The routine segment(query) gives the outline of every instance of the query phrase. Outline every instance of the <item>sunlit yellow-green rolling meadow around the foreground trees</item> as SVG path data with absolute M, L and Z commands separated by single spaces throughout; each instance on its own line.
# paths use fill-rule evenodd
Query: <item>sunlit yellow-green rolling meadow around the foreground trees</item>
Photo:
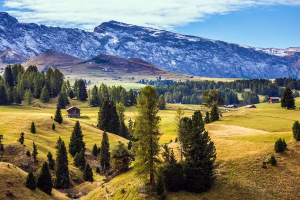
M 41 163 L 46 159 L 46 154 L 51 151 L 55 155 L 55 142 L 58 136 L 68 143 L 72 126 L 76 119 L 63 118 L 61 125 L 56 123 L 56 129 L 51 130 L 53 120 L 50 118 L 55 111 L 55 102 L 39 103 L 35 100 L 33 106 L 0 106 L 0 132 L 3 133 L 2 142 L 5 146 L 14 145 L 20 150 L 17 138 L 21 131 L 25 132 L 26 149 L 32 150 L 32 141 L 37 144 Z M 82 116 L 79 121 L 86 142 L 88 161 L 94 164 L 90 156 L 94 143 L 101 142 L 102 131 L 95 127 L 97 123 L 98 108 L 87 107 L 87 102 L 70 100 L 70 106 L 78 106 Z M 296 105 L 300 99 L 296 99 Z M 176 127 L 174 125 L 174 113 L 178 107 L 182 107 L 186 116 L 191 116 L 194 110 L 200 109 L 202 114 L 207 110 L 201 105 L 167 104 L 166 110 L 159 111 L 161 117 L 161 143 L 168 143 L 178 155 L 178 143 L 175 143 Z M 292 138 L 291 127 L 294 120 L 300 119 L 300 110 L 287 110 L 280 107 L 280 103 L 260 103 L 257 108 L 230 109 L 224 112 L 224 116 L 211 124 L 206 125 L 211 139 L 214 141 L 217 152 L 216 181 L 213 187 L 201 194 L 190 192 L 168 192 L 167 199 L 297 199 L 300 183 L 300 144 Z M 223 110 L 223 109 L 222 109 Z M 223 110 L 224 111 L 224 110 Z M 134 118 L 135 107 L 126 108 L 126 121 Z M 62 113 L 65 114 L 64 110 Z M 37 132 L 29 132 L 30 123 L 34 121 Z M 108 133 L 110 149 L 115 147 L 117 141 L 127 142 L 126 139 Z M 279 137 L 288 143 L 288 149 L 284 153 L 273 151 L 274 141 Z M 172 140 L 172 142 L 170 142 Z M 169 143 L 170 142 L 170 143 Z M 67 146 L 67 145 L 66 145 Z M 267 169 L 260 167 L 261 162 L 274 154 L 278 160 L 276 166 L 268 165 Z M 21 153 L 9 156 L 4 153 L 7 162 L 19 165 L 22 162 Z M 69 156 L 69 169 L 72 173 L 82 176 L 72 164 Z M 98 199 L 107 196 L 109 199 L 144 199 L 143 194 L 138 193 L 138 186 L 142 180 L 135 174 L 134 167 L 108 183 L 102 184 L 102 176 L 96 175 L 94 168 L 93 183 L 74 183 L 77 192 L 87 194 L 83 199 Z M 120 193 L 120 188 L 125 193 Z M 109 193 L 106 192 L 106 188 Z M 16 192 L 16 190 L 15 190 Z M 36 199 L 33 197 L 33 199 Z

